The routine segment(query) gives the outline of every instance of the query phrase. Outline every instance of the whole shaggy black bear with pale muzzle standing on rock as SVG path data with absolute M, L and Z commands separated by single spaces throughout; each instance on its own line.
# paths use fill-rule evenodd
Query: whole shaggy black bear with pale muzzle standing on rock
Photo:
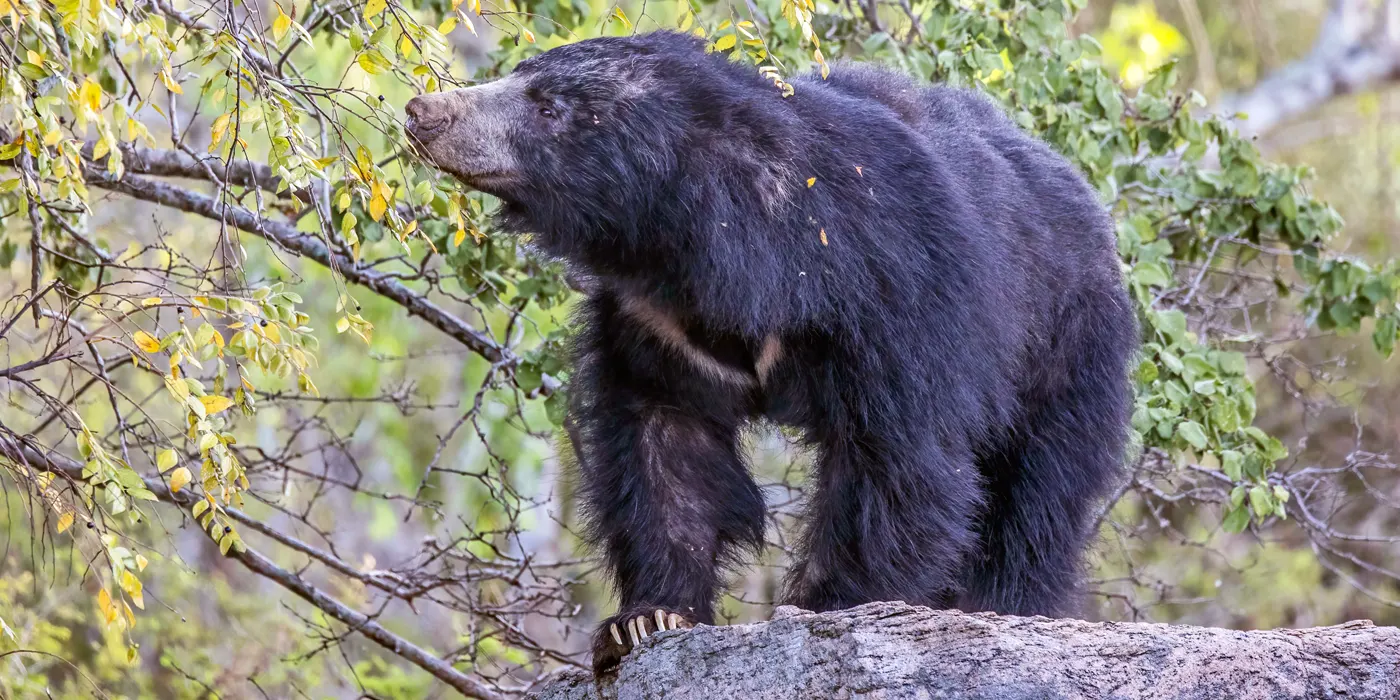
M 503 230 L 591 280 L 570 409 L 620 598 L 598 672 L 713 623 L 762 547 L 749 421 L 815 454 L 784 589 L 809 610 L 1071 612 L 1120 479 L 1137 325 L 1085 179 L 976 92 L 791 84 L 657 32 L 406 106 Z

